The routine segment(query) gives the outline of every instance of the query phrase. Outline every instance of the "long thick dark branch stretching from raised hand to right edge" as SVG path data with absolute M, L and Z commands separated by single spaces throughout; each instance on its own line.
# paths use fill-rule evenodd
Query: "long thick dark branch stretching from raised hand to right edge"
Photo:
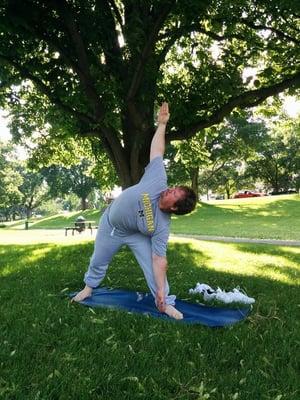
M 231 97 L 229 101 L 221 106 L 219 109 L 215 110 L 212 115 L 206 119 L 202 119 L 196 124 L 187 127 L 186 129 L 178 132 L 171 132 L 167 139 L 168 141 L 178 140 L 178 139 L 188 139 L 194 136 L 197 132 L 202 129 L 208 128 L 212 125 L 222 122 L 222 120 L 231 113 L 231 111 L 236 108 L 247 108 L 254 107 L 262 103 L 267 97 L 275 96 L 281 93 L 283 90 L 290 87 L 300 86 L 300 72 L 296 73 L 294 76 L 285 79 L 282 82 L 276 83 L 272 86 L 250 90 L 239 96 Z

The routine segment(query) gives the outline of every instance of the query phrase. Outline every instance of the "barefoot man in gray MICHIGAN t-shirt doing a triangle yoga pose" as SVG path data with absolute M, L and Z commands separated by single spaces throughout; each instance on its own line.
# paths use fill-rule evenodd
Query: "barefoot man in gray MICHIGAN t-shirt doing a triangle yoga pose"
M 183 318 L 174 307 L 176 296 L 169 295 L 166 250 L 171 214 L 191 212 L 196 195 L 186 186 L 167 186 L 163 155 L 168 120 L 169 107 L 163 103 L 151 142 L 150 163 L 140 182 L 124 190 L 101 217 L 94 253 L 84 277 L 86 286 L 72 301 L 91 296 L 92 289 L 105 277 L 113 255 L 126 244 L 144 272 L 158 310 L 176 319 Z

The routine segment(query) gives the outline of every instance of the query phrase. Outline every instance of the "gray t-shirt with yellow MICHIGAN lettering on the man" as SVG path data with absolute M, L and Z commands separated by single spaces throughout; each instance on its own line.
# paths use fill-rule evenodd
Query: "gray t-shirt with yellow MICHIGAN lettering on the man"
M 158 207 L 161 192 L 168 188 L 162 157 L 145 168 L 137 185 L 124 190 L 111 204 L 110 223 L 122 233 L 141 232 L 151 237 L 152 252 L 165 256 L 171 215 Z

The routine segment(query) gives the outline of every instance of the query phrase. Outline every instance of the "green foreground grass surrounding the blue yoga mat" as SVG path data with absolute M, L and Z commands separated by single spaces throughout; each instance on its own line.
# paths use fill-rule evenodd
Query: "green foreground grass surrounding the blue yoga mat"
M 172 292 L 197 282 L 256 298 L 226 329 L 186 326 L 64 297 L 82 285 L 93 243 L 0 246 L 0 398 L 298 400 L 300 248 L 176 240 Z M 121 250 L 103 284 L 146 291 Z M 298 390 L 298 391 L 297 391 Z

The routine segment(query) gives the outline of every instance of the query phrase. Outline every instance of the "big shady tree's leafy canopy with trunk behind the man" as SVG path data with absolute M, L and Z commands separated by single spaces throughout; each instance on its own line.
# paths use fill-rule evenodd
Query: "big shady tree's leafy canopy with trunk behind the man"
M 192 138 L 298 88 L 299 44 L 293 0 L 1 0 L 0 105 L 16 138 L 88 138 L 127 187 L 158 102 L 168 141 Z

